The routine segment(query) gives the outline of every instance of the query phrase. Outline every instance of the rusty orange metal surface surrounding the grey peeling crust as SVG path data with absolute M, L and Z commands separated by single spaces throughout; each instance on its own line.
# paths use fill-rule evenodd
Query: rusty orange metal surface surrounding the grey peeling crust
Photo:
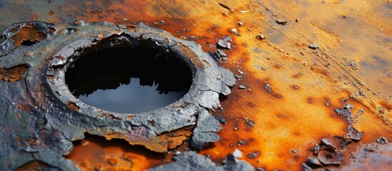
M 0 28 L 6 30 L 21 21 L 65 26 L 76 19 L 109 21 L 126 28 L 142 21 L 162 28 L 177 38 L 196 41 L 205 52 L 215 53 L 221 58 L 218 65 L 237 78 L 231 94 L 221 99 L 223 110 L 209 111 L 226 123 L 218 133 L 221 140 L 197 150 L 199 154 L 221 164 L 238 149 L 242 152 L 238 159 L 266 170 L 351 170 L 379 165 L 380 170 L 390 170 L 391 6 L 391 1 L 1 1 Z M 230 48 L 219 43 L 225 36 L 232 38 Z M 14 41 L 27 39 L 41 41 L 42 35 L 16 37 Z M 15 58 L 23 61 L 30 55 Z M 14 64 L 0 64 L 0 82 L 24 86 L 24 78 L 33 76 L 21 78 L 26 66 Z M 13 93 L 1 91 L 2 108 L 19 111 L 3 120 L 26 125 L 41 122 L 17 120 L 39 106 L 13 104 L 3 97 Z M 32 95 L 43 96 L 40 88 Z M 14 99 L 26 97 L 14 95 Z M 12 134 L 6 127 L 2 130 Z M 145 170 L 172 162 L 175 151 L 189 147 L 186 141 L 156 159 L 116 145 L 93 147 L 97 143 L 89 140 L 84 146 L 75 144 L 67 158 L 84 170 L 94 170 L 97 163 L 120 169 L 125 166 L 107 161 L 111 156 L 119 160 L 121 156 L 114 153 L 122 152 L 133 157 L 131 168 Z M 121 149 L 114 150 L 116 147 Z M 100 157 L 78 157 L 91 150 Z M 71 160 L 59 158 L 67 163 Z M 13 163 L 15 167 L 24 164 Z M 41 163 L 41 167 L 51 165 Z

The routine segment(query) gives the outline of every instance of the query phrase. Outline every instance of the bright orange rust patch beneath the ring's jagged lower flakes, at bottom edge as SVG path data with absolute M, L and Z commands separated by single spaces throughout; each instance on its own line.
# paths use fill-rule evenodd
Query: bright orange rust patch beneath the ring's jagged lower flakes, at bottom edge
M 86 135 L 84 142 L 75 142 L 66 158 L 76 162 L 82 170 L 147 170 L 151 166 L 170 162 L 170 157 L 151 152 L 139 145 L 129 145 L 125 140 L 105 140 L 96 135 Z

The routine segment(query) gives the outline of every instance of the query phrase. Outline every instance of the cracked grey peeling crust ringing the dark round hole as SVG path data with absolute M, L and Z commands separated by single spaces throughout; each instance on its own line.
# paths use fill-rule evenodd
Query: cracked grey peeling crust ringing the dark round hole
M 27 38 L 10 38 L 25 27 L 34 27 L 35 34 L 28 34 Z M 43 37 L 48 30 L 51 34 Z M 156 152 L 166 152 L 185 140 L 160 135 L 189 126 L 196 125 L 192 145 L 198 149 L 205 142 L 220 139 L 213 132 L 221 127 L 208 110 L 219 106 L 219 94 L 231 93 L 235 79 L 233 73 L 217 66 L 197 43 L 175 38 L 145 24 L 137 24 L 130 31 L 107 22 L 89 24 L 85 21 L 62 27 L 41 22 L 14 24 L 3 35 L 1 46 L 4 51 L 0 53 L 0 63 L 1 67 L 11 68 L 4 69 L 0 81 L 0 104 L 4 109 L 1 118 L 8 121 L 0 123 L 3 129 L 0 136 L 4 137 L 0 140 L 2 168 L 15 170 L 24 163 L 39 160 L 50 163 L 49 167 L 76 170 L 77 167 L 63 155 L 69 154 L 72 142 L 84 138 L 84 133 L 108 139 L 121 138 Z M 39 38 L 35 39 L 34 35 Z M 24 44 L 21 40 L 39 41 Z M 75 98 L 64 81 L 72 61 L 89 51 L 118 46 L 149 47 L 179 58 L 194 75 L 189 92 L 171 105 L 146 113 L 112 113 Z M 16 58 L 24 54 L 33 55 Z M 30 66 L 29 71 L 17 69 L 19 63 Z M 17 78 L 9 73 L 26 76 Z M 14 80 L 6 80 L 6 76 Z M 173 144 L 174 140 L 180 142 Z M 11 159 L 17 162 L 10 162 Z

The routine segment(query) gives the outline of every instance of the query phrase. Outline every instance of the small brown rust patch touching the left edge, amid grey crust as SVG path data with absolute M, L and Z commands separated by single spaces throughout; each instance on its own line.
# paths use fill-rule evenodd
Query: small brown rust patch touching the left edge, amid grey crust
M 12 68 L 0 68 L 0 80 L 14 83 L 24 79 L 24 73 L 26 73 L 29 67 L 26 64 L 14 66 Z

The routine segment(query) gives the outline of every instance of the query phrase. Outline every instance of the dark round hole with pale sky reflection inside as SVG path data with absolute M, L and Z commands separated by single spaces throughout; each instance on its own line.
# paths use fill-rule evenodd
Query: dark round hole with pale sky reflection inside
M 84 103 L 119 113 L 162 108 L 182 98 L 192 73 L 153 48 L 106 48 L 79 57 L 66 71 L 71 93 Z

